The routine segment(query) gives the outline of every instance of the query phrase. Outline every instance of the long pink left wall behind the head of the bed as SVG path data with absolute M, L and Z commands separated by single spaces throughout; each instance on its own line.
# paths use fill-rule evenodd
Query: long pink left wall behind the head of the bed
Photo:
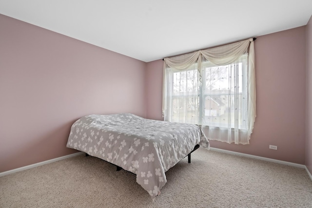
M 0 15 L 0 172 L 60 157 L 91 113 L 146 116 L 146 63 Z

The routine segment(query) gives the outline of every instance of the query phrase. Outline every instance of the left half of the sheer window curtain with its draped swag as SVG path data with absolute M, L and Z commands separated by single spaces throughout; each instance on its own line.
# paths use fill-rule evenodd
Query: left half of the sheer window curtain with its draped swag
M 162 100 L 164 120 L 196 124 L 199 122 L 201 75 L 196 64 L 199 54 L 195 52 L 168 59 L 170 66 L 175 67 L 167 67 L 166 61 L 164 62 L 163 77 L 167 80 L 163 83 L 163 96 L 167 97 Z

